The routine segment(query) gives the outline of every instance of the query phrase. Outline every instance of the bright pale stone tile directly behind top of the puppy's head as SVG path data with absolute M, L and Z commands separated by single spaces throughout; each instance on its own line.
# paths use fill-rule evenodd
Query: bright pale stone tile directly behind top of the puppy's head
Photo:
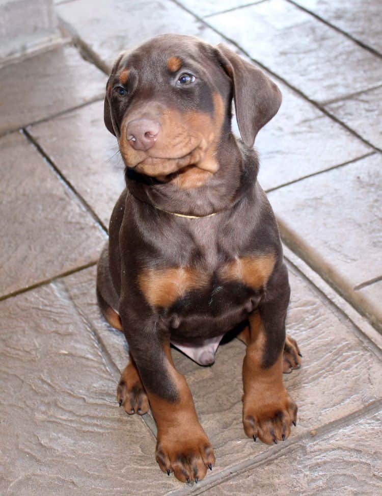
M 165 33 L 195 35 L 211 43 L 220 37 L 170 0 L 77 0 L 57 6 L 68 29 L 96 54 L 110 70 L 122 50 L 131 49 L 153 36 Z M 144 19 L 144 22 L 142 22 Z

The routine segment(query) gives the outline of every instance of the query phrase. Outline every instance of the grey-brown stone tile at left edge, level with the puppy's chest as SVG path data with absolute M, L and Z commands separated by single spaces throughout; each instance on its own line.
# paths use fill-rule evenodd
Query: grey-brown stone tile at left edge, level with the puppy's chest
M 97 259 L 105 234 L 19 134 L 0 139 L 0 296 Z

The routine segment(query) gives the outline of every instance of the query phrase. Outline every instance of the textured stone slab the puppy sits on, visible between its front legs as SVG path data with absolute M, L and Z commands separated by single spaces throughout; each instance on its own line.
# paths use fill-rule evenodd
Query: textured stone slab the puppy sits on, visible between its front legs
M 80 314 L 90 322 L 108 354 L 122 369 L 128 358 L 127 348 L 123 336 L 111 331 L 100 318 L 95 268 L 72 274 L 63 282 Z M 288 332 L 301 346 L 304 366 L 284 376 L 298 404 L 299 419 L 290 440 L 283 445 L 255 444 L 243 433 L 241 367 L 245 348 L 241 342 L 234 340 L 221 346 L 212 367 L 199 367 L 173 350 L 176 366 L 187 378 L 201 423 L 215 449 L 214 476 L 259 454 L 275 455 L 299 435 L 341 419 L 382 396 L 380 359 L 368 351 L 351 325 L 340 320 L 308 283 L 291 273 L 291 285 Z M 122 411 L 121 415 L 126 416 Z

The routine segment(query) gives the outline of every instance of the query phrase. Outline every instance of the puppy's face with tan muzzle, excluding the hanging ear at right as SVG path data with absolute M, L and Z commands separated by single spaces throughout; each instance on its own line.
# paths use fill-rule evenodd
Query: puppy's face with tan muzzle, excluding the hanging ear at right
M 161 36 L 122 55 L 105 122 L 110 115 L 126 166 L 160 180 L 190 168 L 214 173 L 230 86 L 213 47 L 197 38 Z

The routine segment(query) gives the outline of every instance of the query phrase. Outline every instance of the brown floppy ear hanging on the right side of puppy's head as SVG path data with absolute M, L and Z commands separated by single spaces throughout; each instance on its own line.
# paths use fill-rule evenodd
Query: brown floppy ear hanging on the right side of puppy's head
M 276 115 L 281 91 L 264 72 L 219 44 L 220 62 L 232 80 L 236 119 L 241 138 L 253 147 L 259 130 Z

